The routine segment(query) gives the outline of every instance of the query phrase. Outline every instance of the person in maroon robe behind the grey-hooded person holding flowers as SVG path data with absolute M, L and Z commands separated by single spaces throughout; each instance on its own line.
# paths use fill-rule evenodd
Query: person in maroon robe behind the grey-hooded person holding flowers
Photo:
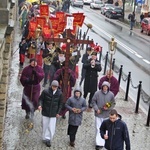
M 98 87 L 101 89 L 102 83 L 107 81 L 110 83 L 110 91 L 113 92 L 114 96 L 119 92 L 118 80 L 113 76 L 113 70 L 107 70 L 106 75 L 100 78 Z

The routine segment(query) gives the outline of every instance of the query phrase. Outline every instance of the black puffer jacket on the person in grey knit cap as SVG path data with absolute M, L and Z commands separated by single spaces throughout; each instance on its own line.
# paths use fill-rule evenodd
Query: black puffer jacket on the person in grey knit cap
M 46 117 L 56 117 L 62 108 L 63 96 L 60 89 L 53 95 L 52 88 L 42 91 L 39 97 L 39 106 L 42 106 L 42 115 Z

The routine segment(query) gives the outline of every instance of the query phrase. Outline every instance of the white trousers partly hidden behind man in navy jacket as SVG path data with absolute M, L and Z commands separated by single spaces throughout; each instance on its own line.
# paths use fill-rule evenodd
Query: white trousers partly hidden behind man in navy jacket
M 104 146 L 105 140 L 101 138 L 100 135 L 100 126 L 103 122 L 103 118 L 95 117 L 95 129 L 96 129 L 96 145 L 97 146 Z

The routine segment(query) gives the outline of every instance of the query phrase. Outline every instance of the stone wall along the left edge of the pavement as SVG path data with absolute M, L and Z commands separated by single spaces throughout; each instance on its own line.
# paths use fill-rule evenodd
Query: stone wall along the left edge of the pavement
M 13 0 L 0 0 L 0 150 L 2 150 L 3 127 L 7 103 L 12 30 L 16 15 L 16 7 L 13 6 Z

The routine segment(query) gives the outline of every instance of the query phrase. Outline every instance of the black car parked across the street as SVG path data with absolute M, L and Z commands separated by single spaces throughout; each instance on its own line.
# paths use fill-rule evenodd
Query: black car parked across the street
M 111 7 L 106 10 L 105 16 L 108 18 L 122 18 L 123 17 L 123 9 L 120 7 Z

